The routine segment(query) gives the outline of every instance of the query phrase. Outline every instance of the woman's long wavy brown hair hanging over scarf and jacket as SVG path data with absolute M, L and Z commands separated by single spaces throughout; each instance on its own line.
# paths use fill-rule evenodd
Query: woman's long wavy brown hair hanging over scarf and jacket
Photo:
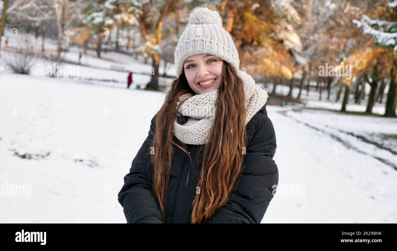
M 205 223 L 218 208 L 225 205 L 243 168 L 243 151 L 247 140 L 243 81 L 225 61 L 222 67 L 222 82 L 218 88 L 215 116 L 208 135 L 210 140 L 200 147 L 201 151 L 204 146 L 202 168 L 197 182 L 200 193 L 196 193 L 193 200 L 191 223 Z M 172 82 L 156 117 L 152 144 L 154 154 L 151 154 L 150 164 L 153 168 L 153 192 L 164 221 L 173 145 L 184 151 L 190 158 L 190 165 L 192 164 L 185 144 L 178 145 L 173 141 L 173 123 L 177 118 L 176 105 L 179 96 L 185 93 L 195 95 L 183 71 L 179 78 Z M 184 101 L 182 100 L 179 106 Z

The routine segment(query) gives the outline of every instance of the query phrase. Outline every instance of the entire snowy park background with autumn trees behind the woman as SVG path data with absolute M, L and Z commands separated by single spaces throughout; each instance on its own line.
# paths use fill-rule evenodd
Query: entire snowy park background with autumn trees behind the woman
M 394 0 L 0 0 L 0 222 L 125 223 L 117 194 L 196 7 L 269 94 L 262 223 L 397 223 Z

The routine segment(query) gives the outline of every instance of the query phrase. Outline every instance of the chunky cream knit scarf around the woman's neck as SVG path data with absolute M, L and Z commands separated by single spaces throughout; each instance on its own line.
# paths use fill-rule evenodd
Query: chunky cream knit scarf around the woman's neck
M 237 74 L 244 83 L 246 118 L 245 124 L 264 106 L 268 93 L 255 84 L 254 79 L 244 71 L 237 70 Z M 177 106 L 186 97 L 189 97 L 178 110 L 178 116 L 188 116 L 187 122 L 179 124 L 174 121 L 174 135 L 181 142 L 191 145 L 208 143 L 206 139 L 212 127 L 215 116 L 218 89 L 202 94 L 185 94 L 179 97 Z

